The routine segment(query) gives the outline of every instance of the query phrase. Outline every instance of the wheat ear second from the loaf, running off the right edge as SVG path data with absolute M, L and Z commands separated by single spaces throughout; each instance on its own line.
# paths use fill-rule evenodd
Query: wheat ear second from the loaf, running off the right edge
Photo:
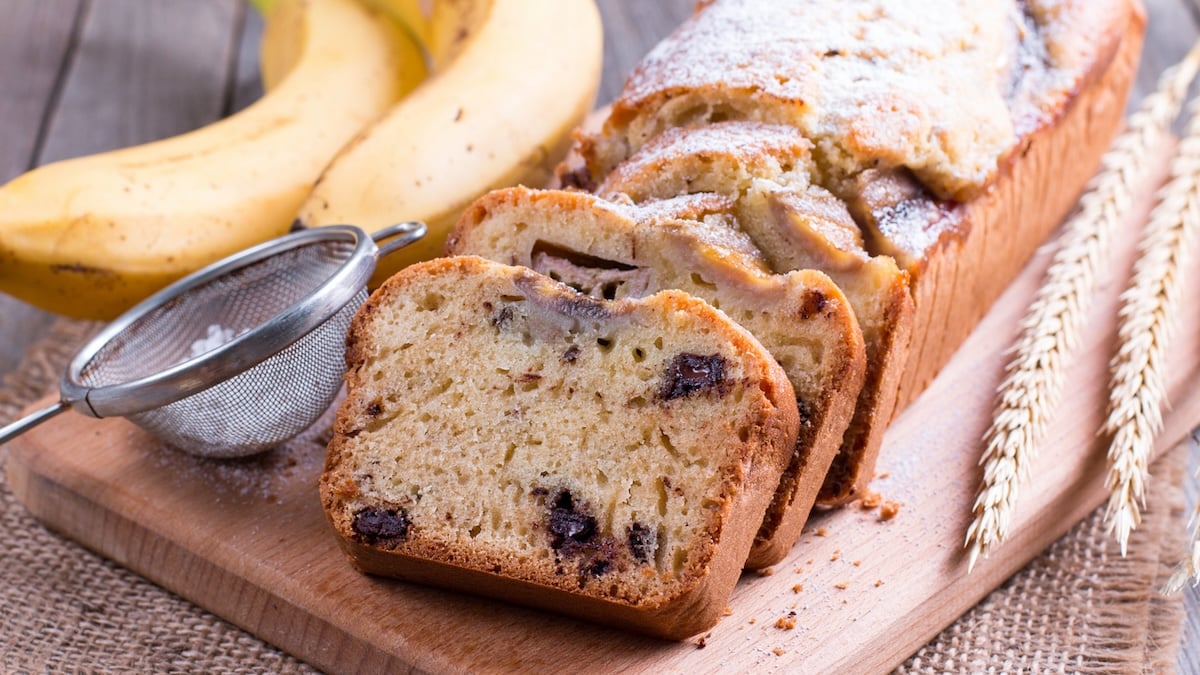
M 1121 294 L 1120 348 L 1112 357 L 1109 416 L 1109 504 L 1104 518 L 1116 532 L 1121 555 L 1141 524 L 1150 453 L 1163 428 L 1166 404 L 1166 350 L 1175 327 L 1192 243 L 1200 232 L 1200 98 L 1188 106 L 1190 120 L 1170 178 L 1138 244 L 1133 281 Z

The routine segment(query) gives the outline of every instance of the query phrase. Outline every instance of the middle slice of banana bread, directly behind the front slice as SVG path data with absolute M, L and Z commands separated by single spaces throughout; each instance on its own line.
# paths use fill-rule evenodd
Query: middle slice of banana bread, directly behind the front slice
M 636 207 L 583 192 L 499 190 L 464 211 L 446 253 L 530 267 L 595 297 L 678 288 L 750 330 L 784 366 L 800 411 L 792 461 L 746 560 L 746 567 L 761 568 L 779 562 L 799 538 L 841 447 L 866 368 L 863 336 L 850 303 L 824 274 L 772 274 L 749 237 L 728 222 L 660 217 L 695 201 Z

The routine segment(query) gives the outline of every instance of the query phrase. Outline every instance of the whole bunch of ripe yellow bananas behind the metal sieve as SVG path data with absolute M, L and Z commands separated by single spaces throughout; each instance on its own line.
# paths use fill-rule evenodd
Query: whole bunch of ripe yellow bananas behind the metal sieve
M 0 292 L 112 318 L 298 216 L 428 220 L 431 257 L 487 187 L 545 181 L 599 83 L 592 0 L 256 5 L 266 94 L 253 106 L 0 186 Z

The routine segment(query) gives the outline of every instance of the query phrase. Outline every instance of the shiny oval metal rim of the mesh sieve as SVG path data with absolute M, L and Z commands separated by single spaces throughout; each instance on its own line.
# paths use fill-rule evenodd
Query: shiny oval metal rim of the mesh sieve
M 329 279 L 270 319 L 229 342 L 160 372 L 118 384 L 83 384 L 83 371 L 96 354 L 151 311 L 234 270 L 284 251 L 335 239 L 352 243 L 354 250 Z M 62 398 L 92 417 L 124 417 L 173 404 L 220 384 L 287 348 L 337 313 L 366 286 L 374 271 L 378 252 L 376 240 L 362 228 L 330 225 L 284 234 L 211 263 L 138 303 L 84 345 L 62 375 Z

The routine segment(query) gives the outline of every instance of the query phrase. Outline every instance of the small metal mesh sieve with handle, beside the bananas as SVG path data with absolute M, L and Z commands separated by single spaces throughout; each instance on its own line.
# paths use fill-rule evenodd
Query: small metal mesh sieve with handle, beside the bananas
M 334 225 L 259 244 L 146 298 L 84 345 L 60 400 L 0 443 L 73 408 L 126 417 L 185 452 L 232 458 L 307 429 L 342 386 L 346 333 L 376 261 L 425 235 Z

